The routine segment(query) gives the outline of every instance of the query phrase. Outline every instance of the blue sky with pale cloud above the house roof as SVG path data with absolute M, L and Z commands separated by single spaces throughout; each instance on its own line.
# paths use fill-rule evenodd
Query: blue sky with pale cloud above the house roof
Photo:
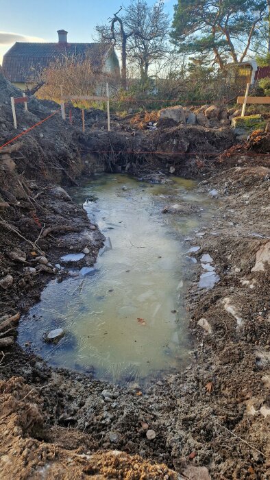
M 147 0 L 154 5 L 156 0 Z M 95 25 L 106 23 L 125 0 L 0 0 L 0 64 L 14 42 L 58 42 L 57 30 L 69 32 L 68 40 L 88 43 Z M 175 0 L 164 0 L 173 16 Z

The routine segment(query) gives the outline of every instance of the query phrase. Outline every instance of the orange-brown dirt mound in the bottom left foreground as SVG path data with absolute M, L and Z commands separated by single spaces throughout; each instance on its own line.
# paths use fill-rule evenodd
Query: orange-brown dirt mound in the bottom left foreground
M 63 443 L 61 427 L 54 428 L 54 443 L 40 442 L 45 425 L 42 417 L 42 400 L 37 389 L 25 385 L 23 379 L 12 377 L 0 381 L 0 435 L 1 478 L 40 479 L 168 479 L 178 475 L 164 464 L 152 464 L 138 455 L 134 457 L 119 451 L 82 453 L 84 435 L 70 431 Z M 60 431 L 60 432 L 59 432 Z M 80 444 L 80 445 L 79 445 Z M 89 446 L 89 445 L 88 445 Z

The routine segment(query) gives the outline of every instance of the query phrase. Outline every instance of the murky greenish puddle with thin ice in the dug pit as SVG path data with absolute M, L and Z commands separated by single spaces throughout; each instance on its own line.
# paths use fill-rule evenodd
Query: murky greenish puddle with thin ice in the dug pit
M 194 268 L 184 238 L 205 224 L 206 199 L 191 180 L 150 185 L 121 175 L 99 176 L 72 193 L 107 237 L 106 247 L 94 268 L 47 285 L 21 321 L 20 344 L 30 342 L 52 365 L 116 383 L 179 370 L 190 358 L 184 293 Z M 198 205 L 200 213 L 162 214 L 172 198 Z M 44 335 L 56 328 L 64 336 L 46 343 Z

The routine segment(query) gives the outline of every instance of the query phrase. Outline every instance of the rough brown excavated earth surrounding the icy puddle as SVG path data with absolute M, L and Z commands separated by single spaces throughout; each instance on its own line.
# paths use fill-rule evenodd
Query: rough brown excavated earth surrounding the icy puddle
M 14 90 L 0 81 L 0 124 L 7 127 L 6 133 L 3 126 L 0 130 L 3 143 L 11 135 L 7 97 Z M 32 101 L 39 117 L 29 113 L 25 127 L 48 113 Z M 25 122 L 21 110 L 19 119 Z M 2 346 L 1 478 L 268 479 L 270 171 L 268 156 L 256 153 L 268 152 L 270 136 L 254 136 L 251 143 L 216 158 L 233 144 L 226 129 L 180 125 L 134 133 L 123 122 L 111 134 L 93 128 L 83 136 L 76 125 L 53 119 L 42 130 L 44 138 L 41 131 L 30 132 L 18 150 L 0 155 L 0 280 L 13 278 L 7 289 L 0 287 L 3 322 L 38 301 L 50 278 L 62 280 L 53 270 L 62 254 L 88 248 L 82 262 L 92 265 L 102 244 L 83 209 L 55 189 L 56 183 L 79 182 L 82 171 L 88 175 L 104 166 L 123 171 L 129 164 L 130 173 L 151 180 L 155 172 L 160 180 L 161 172 L 164 180 L 172 156 L 136 154 L 136 149 L 154 148 L 178 153 L 175 173 L 204 179 L 199 189 L 217 189 L 217 197 L 204 235 L 190 241 L 200 246 L 186 299 L 194 345 L 191 365 L 137 395 L 136 389 L 106 385 L 90 374 L 50 368 L 17 344 Z M 60 230 L 63 226 L 74 231 Z M 15 248 L 25 253 L 25 260 L 10 258 Z M 220 277 L 209 291 L 198 289 L 202 254 L 212 256 Z M 41 255 L 51 263 L 49 271 L 36 261 Z M 198 324 L 202 318 L 208 330 Z M 12 341 L 15 334 L 16 329 L 7 333 Z M 104 400 L 103 389 L 114 394 L 113 401 Z M 147 429 L 156 433 L 152 440 Z

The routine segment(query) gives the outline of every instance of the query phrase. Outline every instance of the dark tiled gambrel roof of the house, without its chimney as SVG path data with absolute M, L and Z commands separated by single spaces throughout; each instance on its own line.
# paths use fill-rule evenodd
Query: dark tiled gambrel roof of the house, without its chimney
M 61 56 L 90 59 L 96 69 L 101 68 L 111 45 L 101 43 L 24 43 L 16 42 L 3 56 L 3 73 L 10 82 L 25 82 L 33 71 L 42 71 Z

